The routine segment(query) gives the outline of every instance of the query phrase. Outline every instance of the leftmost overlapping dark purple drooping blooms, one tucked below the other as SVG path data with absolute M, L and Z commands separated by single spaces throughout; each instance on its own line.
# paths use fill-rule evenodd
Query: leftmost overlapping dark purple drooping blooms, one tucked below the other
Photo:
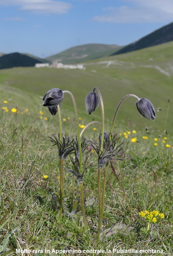
M 52 114 L 52 116 L 56 115 L 58 112 L 57 105 L 61 104 L 61 101 L 64 98 L 64 93 L 61 89 L 53 88 L 49 90 L 46 95 L 43 97 L 42 105 L 47 107 Z

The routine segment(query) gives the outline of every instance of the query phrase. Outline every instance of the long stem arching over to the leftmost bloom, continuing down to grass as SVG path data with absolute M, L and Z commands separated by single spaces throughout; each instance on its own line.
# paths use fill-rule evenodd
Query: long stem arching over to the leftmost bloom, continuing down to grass
M 77 113 L 77 107 L 76 107 L 76 101 L 75 97 L 73 94 L 69 91 L 63 91 L 63 93 L 67 92 L 70 94 L 72 100 L 73 100 L 73 105 L 75 109 L 75 115 L 76 115 L 76 126 L 77 126 L 77 138 L 78 138 L 78 145 L 79 145 L 79 169 L 80 173 L 82 173 L 82 147 L 81 147 L 81 138 L 80 138 L 80 131 L 79 131 L 79 117 Z M 83 213 L 83 222 L 84 226 L 87 229 L 87 222 L 86 222 L 86 216 L 85 216 L 85 205 L 84 205 L 84 199 L 83 199 L 83 182 L 80 183 L 80 188 L 81 188 L 81 204 L 82 204 L 82 213 Z

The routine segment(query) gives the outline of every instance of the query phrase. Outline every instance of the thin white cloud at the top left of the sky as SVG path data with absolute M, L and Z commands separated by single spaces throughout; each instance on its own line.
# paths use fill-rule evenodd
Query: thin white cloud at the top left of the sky
M 30 11 L 34 13 L 67 13 L 71 4 L 53 1 L 53 0 L 1 0 L 2 5 L 16 5 L 21 11 Z

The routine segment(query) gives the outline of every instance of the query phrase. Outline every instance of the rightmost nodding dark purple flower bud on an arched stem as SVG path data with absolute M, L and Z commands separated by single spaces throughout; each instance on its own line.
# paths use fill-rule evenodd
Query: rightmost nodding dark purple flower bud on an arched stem
M 149 100 L 145 98 L 138 100 L 136 102 L 136 107 L 139 113 L 147 119 L 154 120 L 154 118 L 156 117 L 153 104 Z

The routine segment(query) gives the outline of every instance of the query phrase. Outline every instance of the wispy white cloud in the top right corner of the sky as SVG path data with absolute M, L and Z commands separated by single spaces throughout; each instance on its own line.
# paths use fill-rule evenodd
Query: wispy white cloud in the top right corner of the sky
M 131 6 L 104 8 L 104 15 L 95 16 L 99 22 L 161 23 L 173 20 L 172 0 L 127 0 Z

